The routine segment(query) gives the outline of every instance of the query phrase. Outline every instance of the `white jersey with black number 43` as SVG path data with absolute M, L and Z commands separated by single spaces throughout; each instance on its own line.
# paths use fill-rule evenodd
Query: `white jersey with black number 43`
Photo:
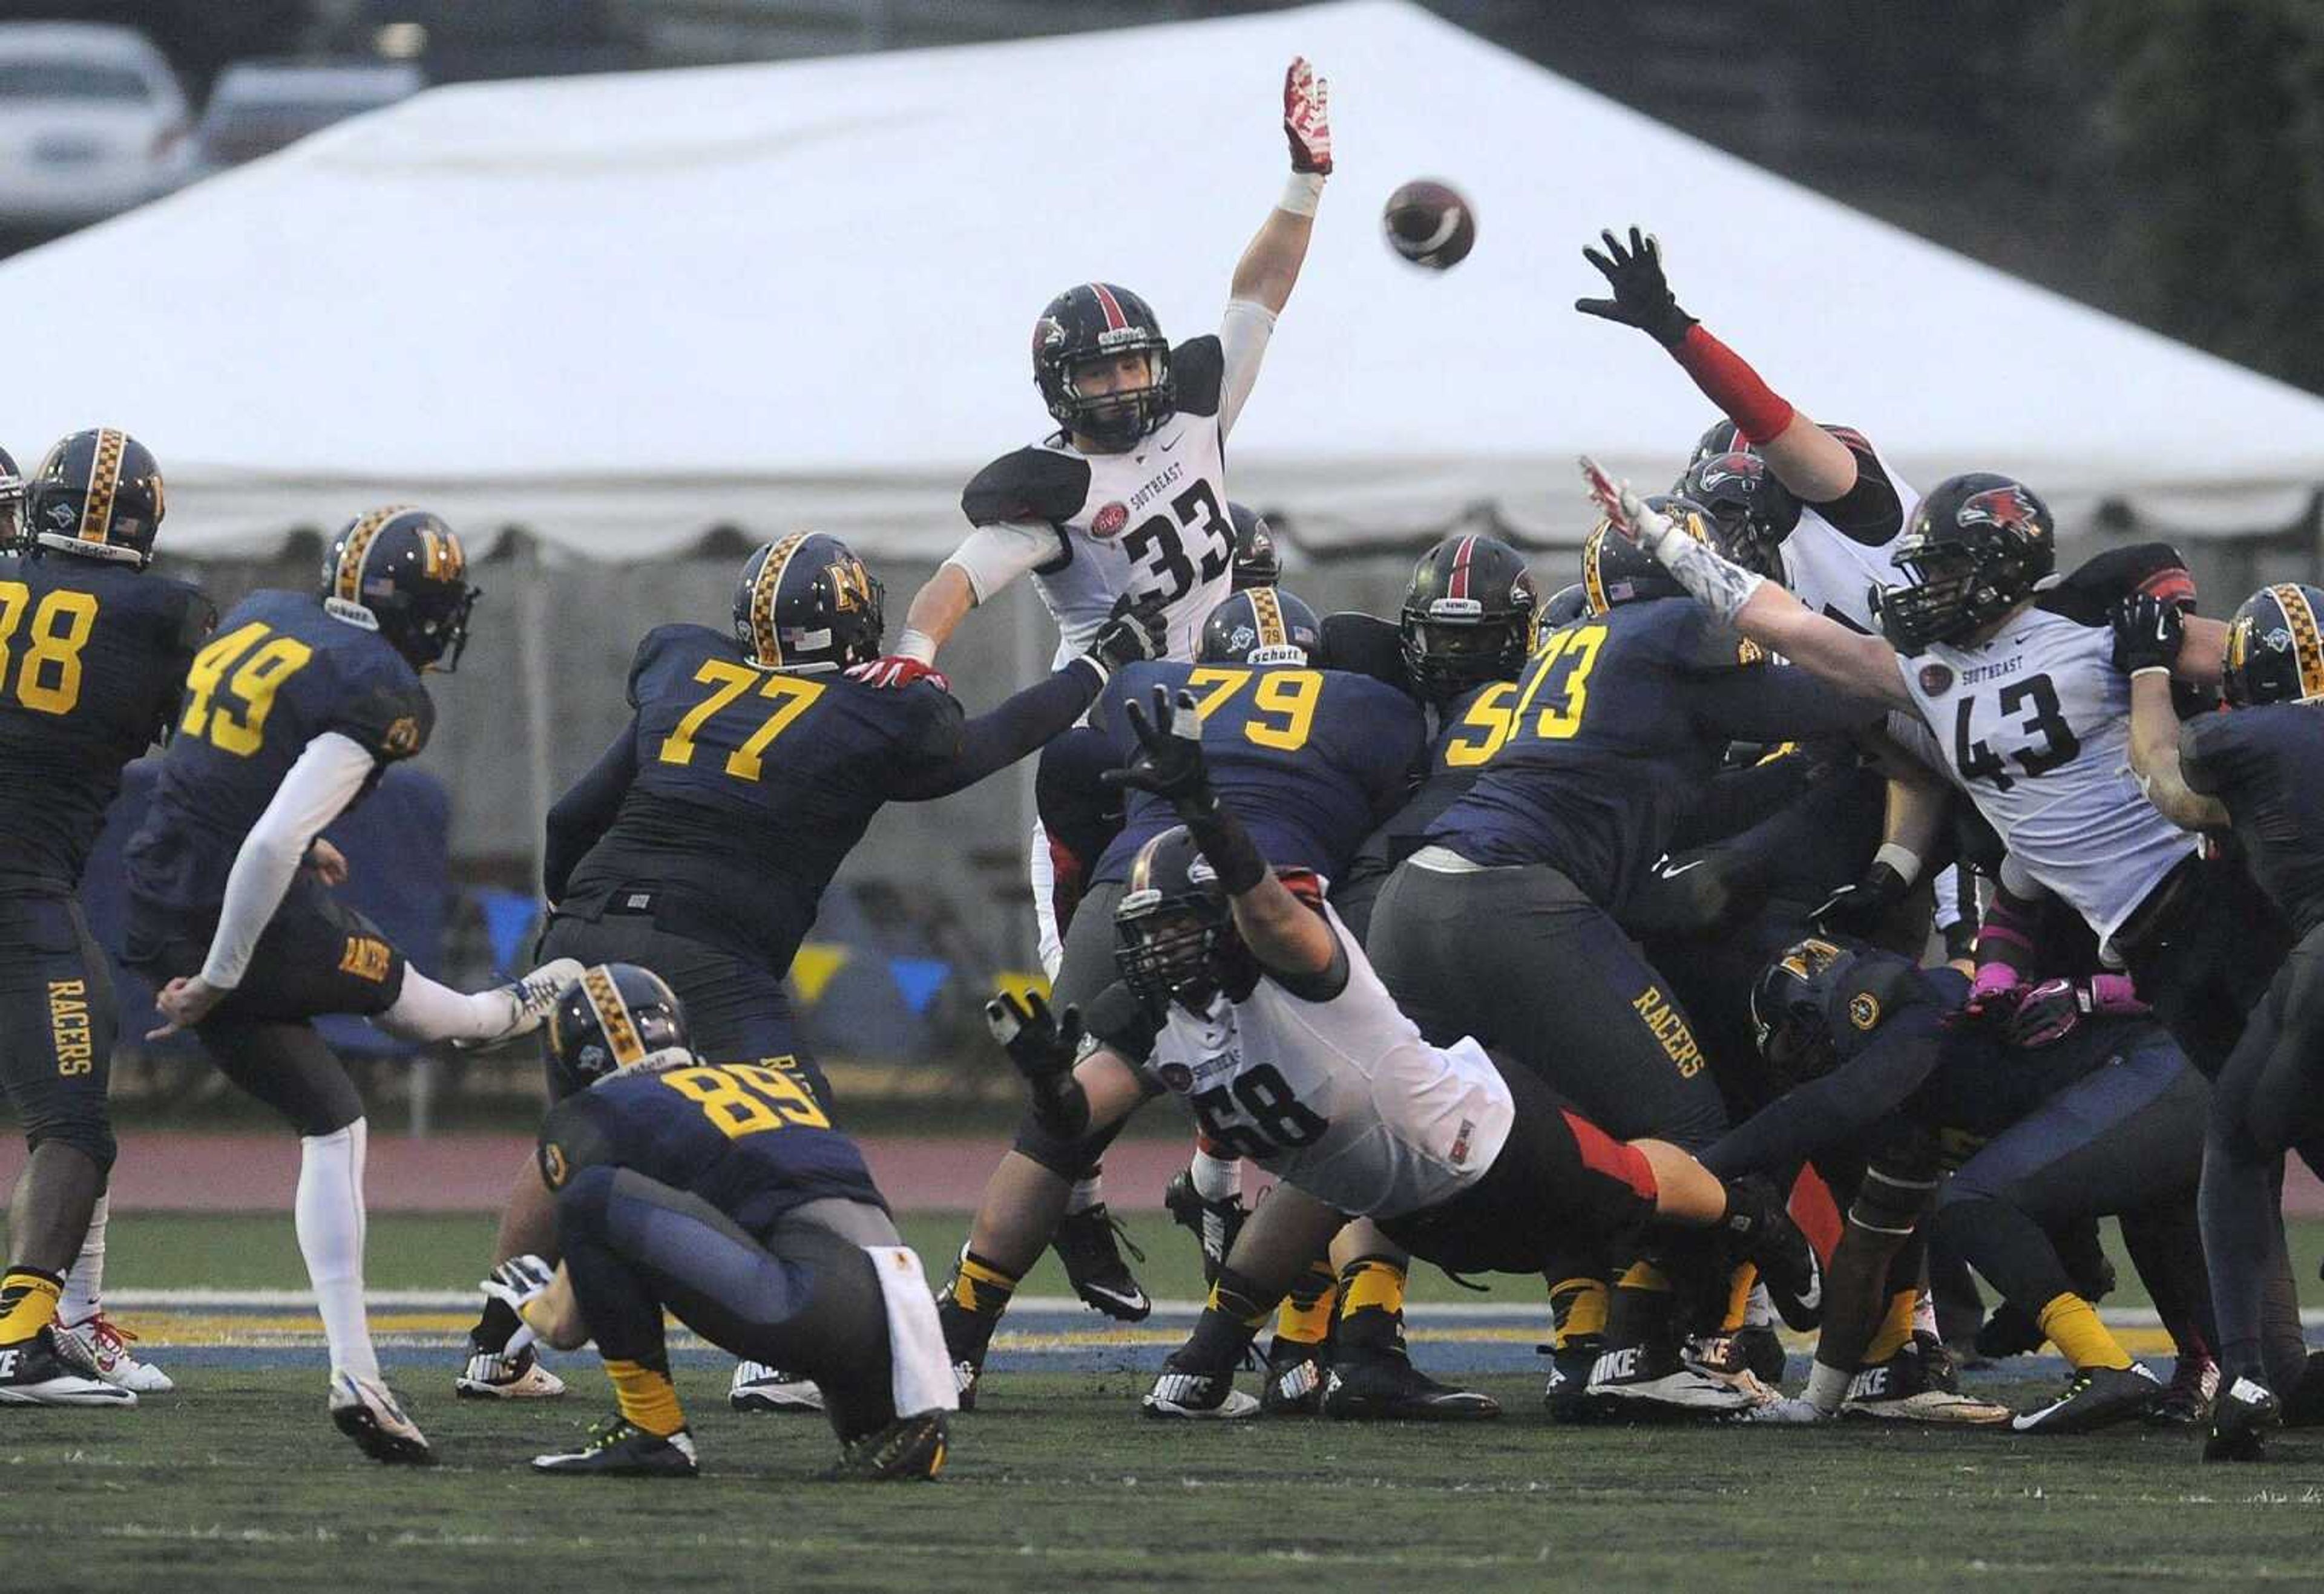
M 1896 665 L 1961 790 L 2101 941 L 2194 850 L 2131 776 L 2131 683 L 2108 627 L 2027 609 L 1980 648 Z

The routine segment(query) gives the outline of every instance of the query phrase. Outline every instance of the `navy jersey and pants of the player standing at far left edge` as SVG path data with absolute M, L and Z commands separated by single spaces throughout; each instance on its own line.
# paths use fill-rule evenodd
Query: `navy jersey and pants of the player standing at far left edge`
M 35 1148 L 112 1162 L 114 988 L 74 885 L 214 618 L 128 565 L 0 558 L 0 1085 Z

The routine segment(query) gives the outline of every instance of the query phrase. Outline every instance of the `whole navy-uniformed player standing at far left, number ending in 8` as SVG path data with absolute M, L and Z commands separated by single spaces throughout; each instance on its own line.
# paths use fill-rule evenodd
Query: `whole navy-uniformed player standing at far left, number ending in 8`
M 146 569 L 160 518 L 160 467 L 128 432 L 74 432 L 30 493 L 0 453 L 0 1085 L 30 1150 L 9 1199 L 0 1403 L 135 1406 L 170 1390 L 95 1306 L 119 1015 L 77 895 L 121 767 L 167 732 L 218 618 L 198 588 Z

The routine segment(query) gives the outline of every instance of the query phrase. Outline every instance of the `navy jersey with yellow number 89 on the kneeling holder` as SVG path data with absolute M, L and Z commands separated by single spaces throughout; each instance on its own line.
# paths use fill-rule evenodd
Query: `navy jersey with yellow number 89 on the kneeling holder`
M 588 1166 L 634 1169 L 765 1236 L 802 1201 L 881 1201 L 862 1153 L 790 1057 L 634 1067 L 541 1122 L 539 1169 L 560 1190 Z

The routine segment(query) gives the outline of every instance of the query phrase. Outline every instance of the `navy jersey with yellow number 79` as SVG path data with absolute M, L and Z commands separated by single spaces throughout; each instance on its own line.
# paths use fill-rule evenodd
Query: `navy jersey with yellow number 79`
M 1355 848 L 1411 790 L 1427 720 L 1404 692 L 1343 669 L 1146 662 L 1120 669 L 1092 723 L 1118 762 L 1136 753 L 1125 702 L 1153 709 L 1153 690 L 1195 692 L 1202 755 L 1218 799 L 1243 820 L 1267 862 L 1339 876 Z M 1122 832 L 1092 881 L 1129 878 L 1129 860 L 1178 823 L 1171 806 L 1129 792 Z

